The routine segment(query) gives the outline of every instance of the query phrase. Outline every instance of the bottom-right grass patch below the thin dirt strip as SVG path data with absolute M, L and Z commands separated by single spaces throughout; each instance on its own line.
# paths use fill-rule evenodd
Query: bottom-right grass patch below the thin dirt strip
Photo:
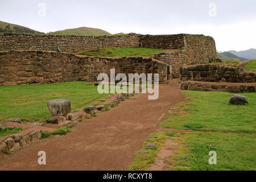
M 177 155 L 172 155 L 171 170 L 256 170 L 255 134 L 183 133 Z M 217 164 L 210 165 L 209 151 L 217 154 Z M 185 156 L 185 157 L 184 157 Z M 182 167 L 181 167 L 182 166 Z

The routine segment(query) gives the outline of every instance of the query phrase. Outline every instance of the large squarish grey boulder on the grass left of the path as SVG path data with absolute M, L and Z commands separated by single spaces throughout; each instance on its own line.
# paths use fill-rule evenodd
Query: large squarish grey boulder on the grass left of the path
M 64 98 L 50 100 L 48 101 L 47 106 L 52 116 L 63 116 L 71 112 L 71 102 L 70 100 Z

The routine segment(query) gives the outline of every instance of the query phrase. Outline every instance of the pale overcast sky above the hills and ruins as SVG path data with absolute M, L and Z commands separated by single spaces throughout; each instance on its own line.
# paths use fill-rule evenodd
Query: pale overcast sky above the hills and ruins
M 0 20 L 46 33 L 93 27 L 111 34 L 204 34 L 218 51 L 256 48 L 255 0 L 0 0 Z

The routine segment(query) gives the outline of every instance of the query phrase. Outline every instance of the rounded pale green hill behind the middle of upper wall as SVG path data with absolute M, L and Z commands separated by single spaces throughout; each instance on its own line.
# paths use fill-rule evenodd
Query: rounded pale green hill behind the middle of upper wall
M 105 30 L 101 30 L 98 28 L 89 28 L 89 27 L 80 27 L 80 28 L 71 28 L 67 30 L 60 30 L 56 32 L 49 32 L 48 34 L 52 35 L 90 35 L 90 36 L 98 36 L 98 35 L 112 35 Z

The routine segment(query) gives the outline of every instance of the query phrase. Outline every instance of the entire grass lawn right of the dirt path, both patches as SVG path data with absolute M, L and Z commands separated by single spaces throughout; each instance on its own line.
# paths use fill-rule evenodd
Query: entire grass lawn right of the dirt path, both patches
M 240 93 L 248 97 L 249 104 L 236 106 L 228 104 L 232 93 L 182 92 L 187 101 L 172 107 L 159 127 L 204 132 L 155 132 L 144 143 L 154 143 L 155 147 L 145 148 L 143 144 L 129 169 L 147 170 L 164 141 L 171 139 L 179 147 L 166 159 L 170 170 L 256 170 L 256 93 Z M 209 151 L 216 152 L 216 165 L 208 163 Z

